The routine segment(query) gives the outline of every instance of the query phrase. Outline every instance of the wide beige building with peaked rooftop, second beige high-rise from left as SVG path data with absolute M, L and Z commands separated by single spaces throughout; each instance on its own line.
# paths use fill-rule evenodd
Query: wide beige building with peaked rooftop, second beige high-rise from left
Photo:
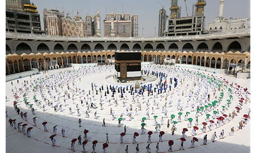
M 86 21 L 82 20 L 78 13 L 73 19 L 70 16 L 66 16 L 62 17 L 61 20 L 63 36 L 86 37 Z

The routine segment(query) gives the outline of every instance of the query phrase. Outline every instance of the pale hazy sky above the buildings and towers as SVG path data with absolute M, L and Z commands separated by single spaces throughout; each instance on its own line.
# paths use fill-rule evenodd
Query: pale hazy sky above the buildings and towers
M 158 32 L 158 15 L 159 10 L 162 8 L 161 3 L 166 10 L 166 14 L 170 14 L 170 0 L 30 0 L 37 6 L 37 10 L 41 18 L 41 27 L 44 29 L 44 22 L 42 20 L 43 10 L 46 8 L 56 9 L 59 11 L 70 12 L 71 17 L 77 14 L 77 10 L 82 19 L 85 19 L 87 13 L 92 17 L 96 14 L 97 10 L 100 12 L 101 20 L 101 36 L 103 36 L 103 19 L 105 13 L 130 13 L 139 15 L 139 36 L 142 36 L 142 28 L 144 37 L 155 36 Z M 188 15 L 191 16 L 193 4 L 196 4 L 197 0 L 187 0 Z M 205 29 L 207 29 L 207 23 L 212 22 L 212 19 L 219 15 L 219 0 L 206 0 L 206 6 L 204 8 L 205 14 Z M 178 0 L 178 5 L 181 6 L 181 16 L 186 16 L 186 8 L 184 0 Z M 123 6 L 123 7 L 122 7 Z M 64 8 L 64 9 L 63 9 Z M 73 14 L 73 15 L 72 15 Z M 65 13 L 66 16 L 66 13 Z M 250 0 L 225 0 L 223 16 L 225 18 L 250 17 Z M 167 24 L 166 24 L 167 27 Z M 166 28 L 167 29 L 167 28 Z

